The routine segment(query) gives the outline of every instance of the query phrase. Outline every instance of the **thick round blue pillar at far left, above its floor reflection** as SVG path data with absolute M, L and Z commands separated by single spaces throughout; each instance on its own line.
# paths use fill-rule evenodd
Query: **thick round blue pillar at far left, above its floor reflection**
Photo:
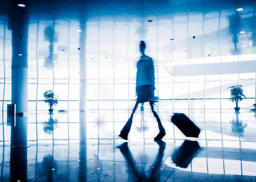
M 13 6 L 22 13 L 10 16 L 8 23 L 12 31 L 12 104 L 16 104 L 16 113 L 27 113 L 29 15 L 27 7 Z

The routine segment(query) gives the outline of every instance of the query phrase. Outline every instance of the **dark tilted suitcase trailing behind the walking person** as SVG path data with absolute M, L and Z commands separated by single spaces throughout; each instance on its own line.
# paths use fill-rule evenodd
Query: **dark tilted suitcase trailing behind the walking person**
M 198 138 L 201 130 L 185 114 L 175 113 L 171 120 L 186 137 Z

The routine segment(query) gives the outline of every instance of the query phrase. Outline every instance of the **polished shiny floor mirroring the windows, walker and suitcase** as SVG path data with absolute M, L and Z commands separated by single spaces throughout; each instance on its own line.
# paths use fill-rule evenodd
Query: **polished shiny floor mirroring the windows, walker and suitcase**
M 0 180 L 256 180 L 255 113 L 185 114 L 201 128 L 198 139 L 184 137 L 169 121 L 172 113 L 159 113 L 167 133 L 159 142 L 153 140 L 157 122 L 147 111 L 134 115 L 128 141 L 117 137 L 125 122 L 91 120 L 90 113 L 38 113 L 15 119 L 3 114 Z

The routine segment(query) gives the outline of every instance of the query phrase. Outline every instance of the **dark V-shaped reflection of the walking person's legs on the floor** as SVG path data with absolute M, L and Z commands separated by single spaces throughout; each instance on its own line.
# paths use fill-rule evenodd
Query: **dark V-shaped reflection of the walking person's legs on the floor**
M 129 168 L 131 168 L 132 173 L 134 173 L 135 178 L 138 182 L 160 182 L 160 176 L 161 176 L 161 164 L 163 160 L 163 152 L 166 148 L 166 142 L 163 142 L 162 140 L 155 141 L 159 145 L 157 157 L 154 161 L 153 168 L 151 168 L 150 176 L 147 177 L 145 172 L 139 173 L 139 170 L 136 167 L 136 161 L 134 161 L 134 158 L 131 154 L 130 149 L 128 148 L 128 143 L 124 142 L 122 145 L 117 146 L 117 148 L 120 149 L 121 154 L 125 157 L 125 160 L 128 162 Z

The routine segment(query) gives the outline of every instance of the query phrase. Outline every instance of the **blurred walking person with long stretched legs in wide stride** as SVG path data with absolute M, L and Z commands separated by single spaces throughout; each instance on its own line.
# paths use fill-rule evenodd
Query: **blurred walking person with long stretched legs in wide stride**
M 158 117 L 157 113 L 154 111 L 154 102 L 157 102 L 154 97 L 154 63 L 151 57 L 148 57 L 145 55 L 145 48 L 146 45 L 144 41 L 140 42 L 140 52 L 142 56 L 140 57 L 140 60 L 137 63 L 137 78 L 136 78 L 136 94 L 137 94 L 137 101 L 134 106 L 134 109 L 132 111 L 131 117 L 128 120 L 128 122 L 125 124 L 124 128 L 122 128 L 122 131 L 120 132 L 119 137 L 122 137 L 123 139 L 128 139 L 128 133 L 131 130 L 131 123 L 133 115 L 139 105 L 139 103 L 149 102 L 151 106 L 151 110 L 154 114 L 154 117 L 157 119 L 157 124 L 159 128 L 159 134 L 157 137 L 155 137 L 155 140 L 163 139 L 163 137 L 166 135 L 165 129 L 163 128 L 163 125 L 160 121 L 160 118 Z

